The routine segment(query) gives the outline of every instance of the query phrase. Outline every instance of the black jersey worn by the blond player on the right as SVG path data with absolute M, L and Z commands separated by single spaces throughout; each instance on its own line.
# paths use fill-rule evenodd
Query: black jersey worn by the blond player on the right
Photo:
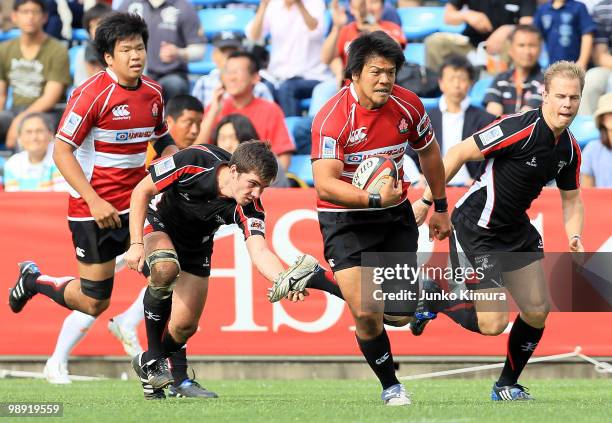
M 457 210 L 480 227 L 529 222 L 527 209 L 550 181 L 562 190 L 580 186 L 580 148 L 566 129 L 555 139 L 541 109 L 503 116 L 474 134 L 484 170 L 457 202 Z

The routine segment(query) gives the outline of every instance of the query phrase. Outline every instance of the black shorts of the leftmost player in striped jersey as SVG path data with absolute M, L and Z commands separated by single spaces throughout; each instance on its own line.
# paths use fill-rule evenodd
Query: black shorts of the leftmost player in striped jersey
M 100 229 L 94 220 L 69 220 L 76 259 L 81 263 L 106 263 L 125 253 L 130 240 L 129 214 L 119 219 L 119 229 Z

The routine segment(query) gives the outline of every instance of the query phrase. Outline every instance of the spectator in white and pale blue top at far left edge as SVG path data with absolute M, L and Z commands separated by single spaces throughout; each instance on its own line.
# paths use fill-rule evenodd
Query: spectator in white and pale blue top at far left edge
M 54 128 L 42 113 L 21 119 L 17 133 L 23 151 L 4 166 L 6 191 L 67 191 L 68 185 L 53 162 Z

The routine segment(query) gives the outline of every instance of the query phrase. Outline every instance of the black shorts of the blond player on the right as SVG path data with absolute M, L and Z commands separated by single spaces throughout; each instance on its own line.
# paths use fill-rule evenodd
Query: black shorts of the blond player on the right
M 479 275 L 484 275 L 467 281 L 470 289 L 500 288 L 503 272 L 521 269 L 544 258 L 542 237 L 529 222 L 490 230 L 471 222 L 456 209 L 451 221 L 454 227 L 450 237 L 453 267 L 465 270 L 471 266 Z

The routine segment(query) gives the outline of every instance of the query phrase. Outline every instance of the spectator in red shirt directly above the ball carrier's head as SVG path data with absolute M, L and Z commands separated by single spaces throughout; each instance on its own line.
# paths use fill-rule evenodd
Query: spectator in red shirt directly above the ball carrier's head
M 321 49 L 321 61 L 330 65 L 339 79 L 342 78 L 342 67 L 346 66 L 349 45 L 361 34 L 384 31 L 402 48 L 406 46 L 402 28 L 394 22 L 382 20 L 384 0 L 351 0 L 349 9 L 355 17 L 351 23 L 347 23 L 346 11 L 338 0 L 332 0 L 330 8 L 332 29 Z M 340 62 L 336 58 L 340 58 Z

